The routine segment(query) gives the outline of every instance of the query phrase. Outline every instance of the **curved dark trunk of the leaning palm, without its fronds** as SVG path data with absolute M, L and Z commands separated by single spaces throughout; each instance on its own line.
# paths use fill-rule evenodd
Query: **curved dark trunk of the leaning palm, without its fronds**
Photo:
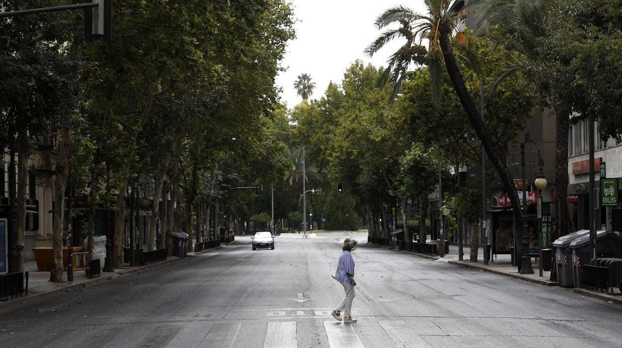
M 509 172 L 506 162 L 501 161 L 501 158 L 497 153 L 497 149 L 494 147 L 490 135 L 488 134 L 488 131 L 486 131 L 484 123 L 481 120 L 481 115 L 477 111 L 475 103 L 473 103 L 473 98 L 471 98 L 468 90 L 466 90 L 462 73 L 460 73 L 460 69 L 458 68 L 456 59 L 453 55 L 453 47 L 449 39 L 450 28 L 448 26 L 442 27 L 439 32 L 440 49 L 443 52 L 445 67 L 447 67 L 447 73 L 450 80 L 452 80 L 453 89 L 455 90 L 458 99 L 466 112 L 466 116 L 468 116 L 471 121 L 471 125 L 473 126 L 475 133 L 478 138 L 480 138 L 481 144 L 484 146 L 486 154 L 488 154 L 488 158 L 492 162 L 494 169 L 496 169 L 499 174 L 504 189 L 508 192 L 509 200 L 512 203 L 514 223 L 516 226 L 515 229 L 520 230 L 522 233 L 523 217 L 521 204 L 518 199 L 518 191 L 516 190 L 516 186 L 514 186 L 514 182 L 512 180 L 512 174 Z M 518 243 L 518 245 L 515 245 L 514 247 L 522 253 L 521 243 Z

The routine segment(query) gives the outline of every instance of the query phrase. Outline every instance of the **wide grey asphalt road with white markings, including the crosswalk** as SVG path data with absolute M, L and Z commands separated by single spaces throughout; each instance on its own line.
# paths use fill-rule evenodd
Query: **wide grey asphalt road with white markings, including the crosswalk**
M 0 347 L 622 347 L 622 306 L 362 242 L 359 321 L 337 322 L 343 238 L 238 237 L 49 296 L 0 317 Z

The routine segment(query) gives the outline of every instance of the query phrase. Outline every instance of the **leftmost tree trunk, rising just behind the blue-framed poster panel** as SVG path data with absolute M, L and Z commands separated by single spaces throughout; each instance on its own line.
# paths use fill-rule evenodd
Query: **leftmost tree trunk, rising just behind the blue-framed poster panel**
M 26 189 L 28 187 L 28 159 L 30 158 L 30 139 L 26 130 L 19 131 L 17 136 L 17 204 L 16 221 L 17 235 L 15 248 L 17 252 L 17 271 L 24 271 L 24 240 L 26 238 Z M 4 175 L 4 174 L 2 174 Z M 30 197 L 32 199 L 33 197 Z

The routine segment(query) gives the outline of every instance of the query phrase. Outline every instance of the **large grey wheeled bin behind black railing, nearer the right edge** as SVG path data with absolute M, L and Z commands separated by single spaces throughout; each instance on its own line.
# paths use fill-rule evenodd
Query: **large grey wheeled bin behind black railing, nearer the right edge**
M 592 251 L 590 250 L 590 233 L 580 235 L 570 242 L 572 251 L 572 280 L 575 288 L 583 284 L 582 265 L 590 265 Z M 620 232 L 597 231 L 596 232 L 596 256 L 598 258 L 622 257 L 622 240 Z

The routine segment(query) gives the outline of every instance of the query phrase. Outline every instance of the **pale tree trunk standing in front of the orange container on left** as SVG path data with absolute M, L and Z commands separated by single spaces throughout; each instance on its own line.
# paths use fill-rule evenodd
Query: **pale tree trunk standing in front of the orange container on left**
M 53 222 L 53 258 L 50 281 L 62 283 L 63 279 L 63 222 L 65 221 L 65 188 L 69 176 L 69 156 L 72 149 L 72 116 L 65 116 L 65 126 L 62 130 L 60 151 L 56 161 L 54 172 L 56 183 L 54 185 L 54 222 Z M 71 219 L 71 217 L 68 217 Z

